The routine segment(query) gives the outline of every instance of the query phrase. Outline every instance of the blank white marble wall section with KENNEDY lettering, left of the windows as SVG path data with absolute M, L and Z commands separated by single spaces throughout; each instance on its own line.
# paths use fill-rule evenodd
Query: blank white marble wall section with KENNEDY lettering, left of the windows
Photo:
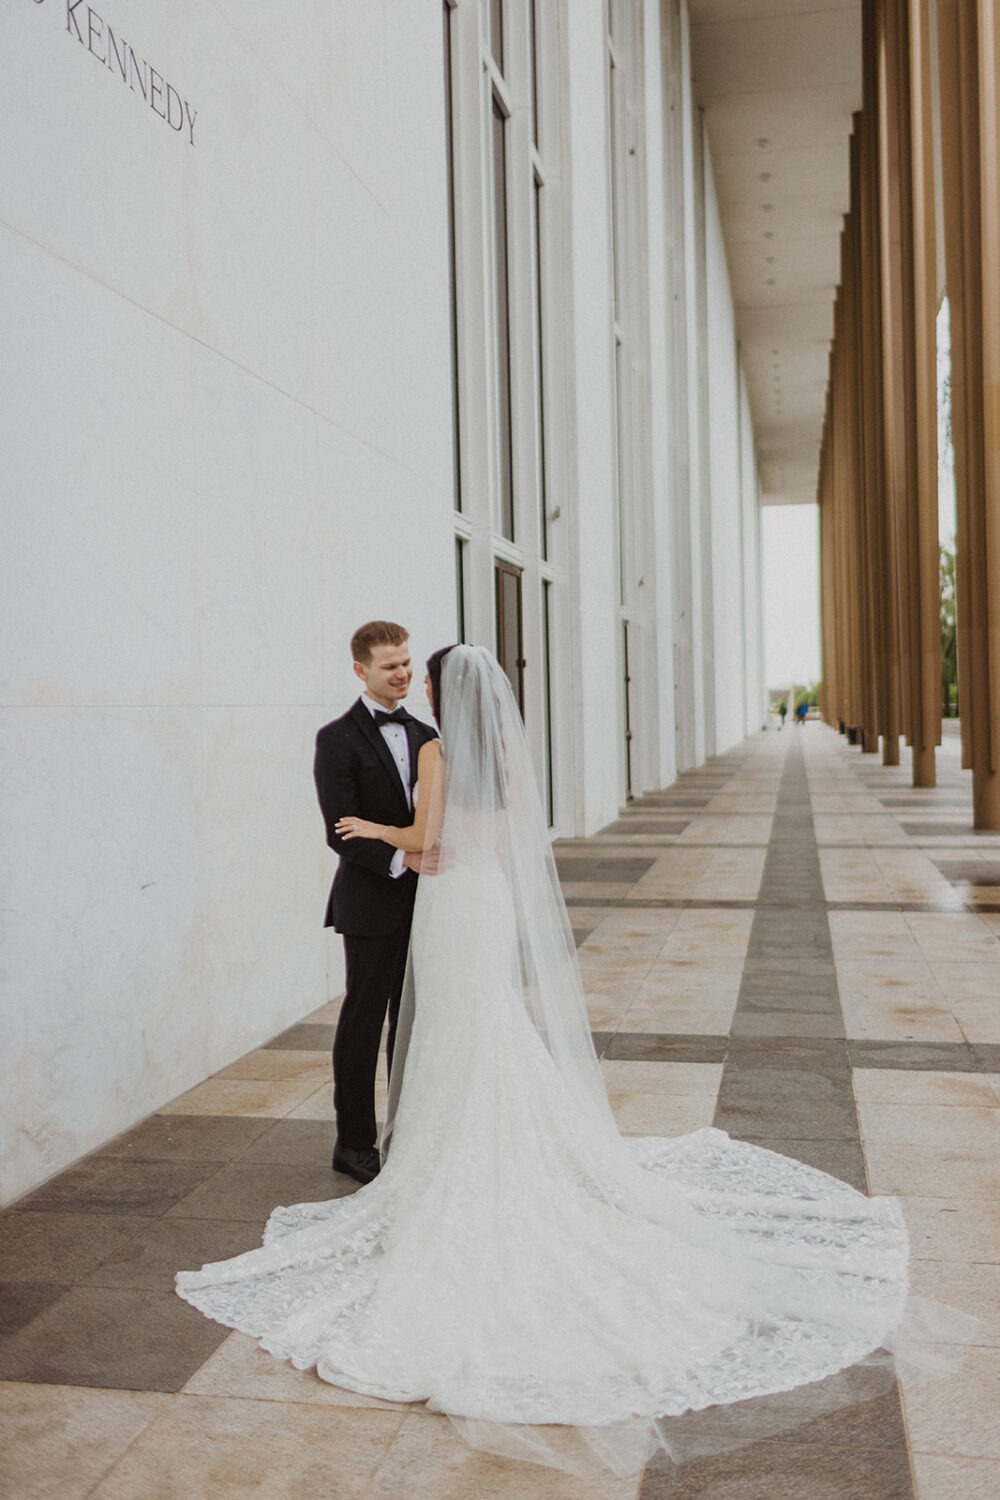
M 312 738 L 454 633 L 421 12 L 3 8 L 4 1202 L 337 986 Z

